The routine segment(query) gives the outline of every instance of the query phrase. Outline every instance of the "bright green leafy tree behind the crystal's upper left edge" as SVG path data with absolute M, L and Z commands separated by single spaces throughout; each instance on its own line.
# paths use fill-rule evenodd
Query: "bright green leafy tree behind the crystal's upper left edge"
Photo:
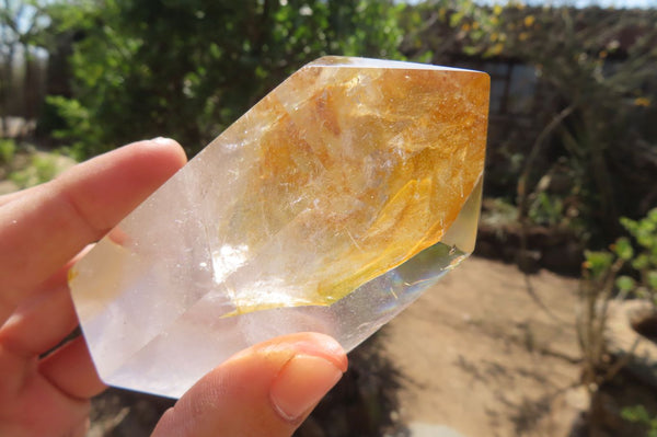
M 49 8 L 81 34 L 73 99 L 49 104 L 84 154 L 172 136 L 196 151 L 291 71 L 326 54 L 396 58 L 388 1 L 99 0 Z

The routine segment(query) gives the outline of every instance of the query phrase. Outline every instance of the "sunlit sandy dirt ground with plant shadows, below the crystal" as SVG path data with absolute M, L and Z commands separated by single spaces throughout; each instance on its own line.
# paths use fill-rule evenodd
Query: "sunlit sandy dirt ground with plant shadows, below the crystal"
M 577 280 L 529 280 L 531 292 L 516 266 L 471 257 L 384 327 L 403 422 L 464 437 L 568 436 L 587 406 L 574 388 Z

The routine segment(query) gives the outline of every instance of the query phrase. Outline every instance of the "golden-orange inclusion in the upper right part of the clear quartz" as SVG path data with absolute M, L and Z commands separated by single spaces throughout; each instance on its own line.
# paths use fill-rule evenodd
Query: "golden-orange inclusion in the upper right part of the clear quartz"
M 235 312 L 331 304 L 440 242 L 469 197 L 479 202 L 488 83 L 476 71 L 327 57 L 238 120 L 223 143 L 260 137 L 218 232 L 253 253 L 285 235 L 296 254 L 270 272 L 286 277 L 284 299 L 235 291 Z

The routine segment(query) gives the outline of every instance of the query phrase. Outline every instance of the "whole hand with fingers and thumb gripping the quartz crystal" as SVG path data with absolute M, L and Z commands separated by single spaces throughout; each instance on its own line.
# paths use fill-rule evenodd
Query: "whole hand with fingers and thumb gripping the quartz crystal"
M 66 273 L 185 161 L 173 140 L 141 141 L 0 196 L 1 436 L 85 434 L 105 386 L 82 337 L 59 345 L 78 324 Z M 289 436 L 346 366 L 320 334 L 253 346 L 194 386 L 153 435 Z

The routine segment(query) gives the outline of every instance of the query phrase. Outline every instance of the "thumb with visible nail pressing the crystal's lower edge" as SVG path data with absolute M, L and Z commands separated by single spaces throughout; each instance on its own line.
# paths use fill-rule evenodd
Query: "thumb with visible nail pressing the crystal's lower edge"
M 326 335 L 261 343 L 198 381 L 164 413 L 152 437 L 291 436 L 346 368 L 344 350 Z

